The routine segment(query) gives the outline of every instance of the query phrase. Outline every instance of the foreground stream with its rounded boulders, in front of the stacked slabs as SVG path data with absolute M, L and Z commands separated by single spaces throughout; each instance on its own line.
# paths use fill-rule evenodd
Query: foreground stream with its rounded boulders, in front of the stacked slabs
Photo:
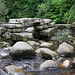
M 10 47 L 8 43 L 4 44 L 7 46 L 0 48 L 1 75 L 75 74 L 74 47 L 65 42 L 59 45 L 57 51 L 50 50 L 53 44 L 44 41 L 18 41 Z

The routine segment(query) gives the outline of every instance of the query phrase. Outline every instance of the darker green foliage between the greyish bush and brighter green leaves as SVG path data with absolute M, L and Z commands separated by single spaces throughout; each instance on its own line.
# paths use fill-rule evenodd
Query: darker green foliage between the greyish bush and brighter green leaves
M 8 19 L 10 18 L 31 18 L 36 15 L 37 5 L 40 4 L 42 0 L 9 0 L 7 1 L 9 6 Z

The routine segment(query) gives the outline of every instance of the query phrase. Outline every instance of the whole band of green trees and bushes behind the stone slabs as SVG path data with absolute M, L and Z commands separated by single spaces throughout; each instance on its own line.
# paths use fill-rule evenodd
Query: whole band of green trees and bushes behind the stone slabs
M 75 0 L 0 0 L 0 17 L 6 20 L 36 17 L 52 19 L 55 23 L 72 23 Z

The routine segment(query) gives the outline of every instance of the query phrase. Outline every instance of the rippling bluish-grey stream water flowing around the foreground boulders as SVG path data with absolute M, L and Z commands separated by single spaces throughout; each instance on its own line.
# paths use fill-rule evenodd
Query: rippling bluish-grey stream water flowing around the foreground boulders
M 0 49 L 0 52 L 3 51 Z M 9 51 L 5 51 L 9 54 Z M 24 66 L 27 64 L 27 67 L 24 69 L 24 72 L 21 74 L 15 75 L 75 75 L 75 69 L 61 69 L 61 68 L 49 68 L 48 70 L 39 70 L 39 65 L 45 61 L 42 59 L 40 54 L 36 54 L 36 57 L 33 59 L 12 59 L 10 56 L 7 58 L 0 58 L 0 75 L 12 75 L 7 74 L 3 71 L 5 66 L 16 65 Z

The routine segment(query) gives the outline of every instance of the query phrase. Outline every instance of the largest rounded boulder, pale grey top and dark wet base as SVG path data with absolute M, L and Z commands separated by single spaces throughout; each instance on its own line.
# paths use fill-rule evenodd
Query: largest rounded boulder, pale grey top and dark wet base
M 10 56 L 16 58 L 32 58 L 35 55 L 36 53 L 33 47 L 22 41 L 15 43 L 10 50 Z

